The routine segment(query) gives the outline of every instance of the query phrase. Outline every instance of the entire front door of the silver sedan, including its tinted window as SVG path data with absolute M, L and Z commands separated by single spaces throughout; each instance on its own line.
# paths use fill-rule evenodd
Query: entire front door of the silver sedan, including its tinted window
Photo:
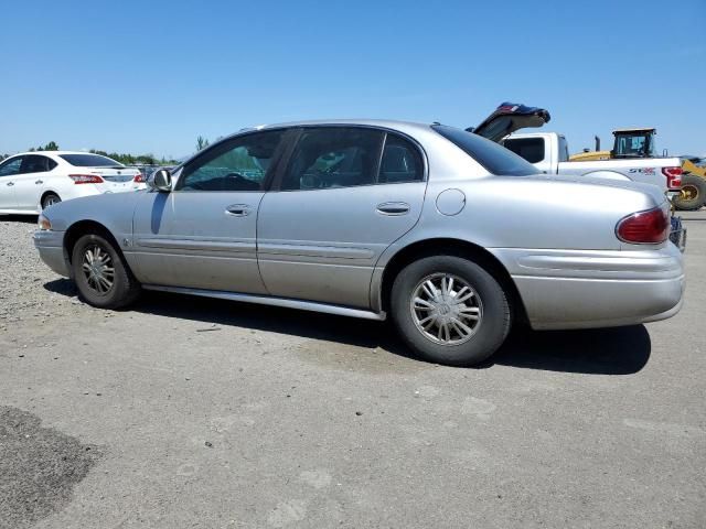
M 257 267 L 257 212 L 285 130 L 212 145 L 175 175 L 171 193 L 145 193 L 133 220 L 143 282 L 266 293 Z

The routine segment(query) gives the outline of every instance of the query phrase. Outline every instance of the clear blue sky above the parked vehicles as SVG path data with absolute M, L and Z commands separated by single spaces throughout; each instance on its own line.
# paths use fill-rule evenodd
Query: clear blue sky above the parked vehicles
M 654 126 L 706 154 L 704 28 L 706 0 L 9 1 L 0 152 L 183 156 L 258 123 L 468 127 L 511 100 L 547 108 L 571 152 Z

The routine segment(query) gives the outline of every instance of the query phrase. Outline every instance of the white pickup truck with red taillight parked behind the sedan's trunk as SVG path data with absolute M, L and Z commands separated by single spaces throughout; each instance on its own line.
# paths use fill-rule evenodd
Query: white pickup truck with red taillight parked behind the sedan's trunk
M 682 161 L 678 158 L 571 162 L 566 138 L 556 132 L 512 134 L 501 143 L 545 173 L 645 182 L 670 194 L 678 193 L 682 186 Z

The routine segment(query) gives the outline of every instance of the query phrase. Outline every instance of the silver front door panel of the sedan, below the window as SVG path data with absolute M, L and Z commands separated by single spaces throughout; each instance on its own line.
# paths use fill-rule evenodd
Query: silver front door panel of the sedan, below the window
M 265 294 L 257 267 L 260 192 L 146 193 L 129 250 L 145 283 Z M 244 214 L 227 208 L 242 205 Z

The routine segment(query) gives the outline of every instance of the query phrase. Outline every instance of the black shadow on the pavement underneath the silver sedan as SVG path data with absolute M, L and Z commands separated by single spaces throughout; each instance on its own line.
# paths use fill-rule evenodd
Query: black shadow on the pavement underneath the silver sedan
M 44 288 L 66 296 L 76 295 L 74 283 L 67 279 L 47 282 Z M 414 358 L 388 322 L 165 292 L 145 292 L 129 310 L 146 315 L 289 334 L 355 347 L 379 347 L 397 356 Z M 489 361 L 477 366 L 477 369 L 504 365 L 590 375 L 630 375 L 648 364 L 650 353 L 650 334 L 644 325 L 545 332 L 518 326 L 498 353 Z M 352 349 L 351 354 L 355 354 L 355 350 Z

